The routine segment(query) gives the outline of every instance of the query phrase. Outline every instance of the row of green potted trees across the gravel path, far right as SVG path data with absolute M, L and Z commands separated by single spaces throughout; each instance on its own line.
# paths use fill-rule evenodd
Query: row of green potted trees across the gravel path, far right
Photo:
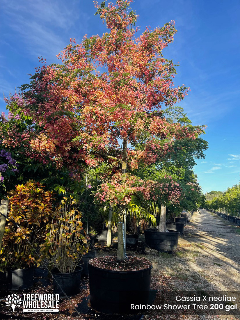
M 240 216 L 240 184 L 228 188 L 221 196 L 206 201 L 205 208 Z

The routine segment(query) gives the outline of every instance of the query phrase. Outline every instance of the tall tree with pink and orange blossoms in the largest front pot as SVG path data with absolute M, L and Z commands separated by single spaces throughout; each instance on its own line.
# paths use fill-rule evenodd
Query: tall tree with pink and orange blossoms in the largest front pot
M 52 161 L 59 168 L 67 165 L 75 179 L 81 179 L 86 165 L 104 162 L 111 166 L 110 184 L 102 185 L 98 196 L 102 200 L 106 194 L 105 199 L 121 203 L 119 224 L 129 190 L 142 190 L 148 197 L 154 186 L 159 190 L 166 187 L 154 181 L 135 185 L 136 177 L 126 175 L 126 169 L 171 158 L 184 149 L 185 141 L 198 139 L 204 130 L 203 126 L 168 121 L 162 111 L 163 106 L 171 108 L 182 100 L 188 91 L 185 86 L 174 86 L 175 65 L 162 55 L 177 32 L 174 21 L 153 31 L 146 28 L 135 36 L 138 16 L 129 10 L 131 2 L 117 0 L 108 6 L 105 1 L 100 5 L 95 2 L 96 15 L 105 22 L 107 32 L 84 36 L 81 44 L 70 39 L 58 55 L 60 64 L 46 65 L 40 58 L 43 66 L 36 68 L 30 84 L 22 86 L 21 104 L 24 114 L 37 124 L 34 134 L 26 134 L 33 157 Z M 122 195 L 118 190 L 117 195 L 111 195 L 113 183 L 124 188 Z M 176 183 L 171 180 L 172 185 Z M 179 198 L 177 190 L 169 194 L 173 202 Z

